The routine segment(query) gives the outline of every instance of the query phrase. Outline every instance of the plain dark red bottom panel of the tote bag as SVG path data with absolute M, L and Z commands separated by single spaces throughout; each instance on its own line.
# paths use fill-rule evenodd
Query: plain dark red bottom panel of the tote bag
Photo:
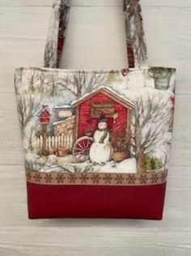
M 151 186 L 45 185 L 27 182 L 29 219 L 162 219 L 166 183 Z

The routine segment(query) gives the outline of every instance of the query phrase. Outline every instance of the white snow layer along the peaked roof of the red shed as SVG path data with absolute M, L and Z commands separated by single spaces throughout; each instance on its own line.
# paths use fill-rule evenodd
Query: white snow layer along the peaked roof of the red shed
M 91 98 L 91 94 L 96 94 L 99 93 L 100 91 L 106 91 L 109 94 L 112 94 L 113 96 L 115 96 L 116 98 L 119 98 L 121 100 L 121 104 L 122 102 L 125 102 L 126 104 L 128 104 L 129 106 L 131 106 L 132 108 L 134 107 L 134 103 L 129 101 L 127 98 L 125 98 L 123 95 L 117 93 L 116 91 L 114 91 L 112 88 L 109 88 L 108 86 L 100 86 L 97 89 L 94 89 L 91 91 L 91 93 L 85 93 L 83 95 L 83 97 L 79 98 L 78 100 L 75 100 L 74 102 L 71 103 L 71 106 L 76 106 L 79 105 L 80 102 L 85 101 L 87 98 Z

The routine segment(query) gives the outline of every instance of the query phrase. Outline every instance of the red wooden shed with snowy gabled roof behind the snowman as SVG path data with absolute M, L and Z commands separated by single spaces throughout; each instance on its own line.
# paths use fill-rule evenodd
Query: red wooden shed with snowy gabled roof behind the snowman
M 107 119 L 108 129 L 129 132 L 132 102 L 108 87 L 100 87 L 72 103 L 75 108 L 75 138 L 92 136 L 100 118 Z

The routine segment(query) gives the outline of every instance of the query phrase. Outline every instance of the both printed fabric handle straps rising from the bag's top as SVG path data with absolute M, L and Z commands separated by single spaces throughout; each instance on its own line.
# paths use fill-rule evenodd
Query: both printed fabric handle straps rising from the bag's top
M 61 59 L 69 21 L 71 0 L 56 0 L 45 46 L 45 67 L 57 68 Z M 123 0 L 129 67 L 147 65 L 145 33 L 139 0 Z

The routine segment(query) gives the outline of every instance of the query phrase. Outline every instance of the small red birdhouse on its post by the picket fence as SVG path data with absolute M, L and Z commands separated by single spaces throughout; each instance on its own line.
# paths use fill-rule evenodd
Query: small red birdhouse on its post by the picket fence
M 48 110 L 48 106 L 43 105 L 42 110 L 40 111 L 39 116 L 39 124 L 42 126 L 42 148 L 41 154 L 46 155 L 48 152 L 47 149 L 47 125 L 51 123 L 51 113 Z

